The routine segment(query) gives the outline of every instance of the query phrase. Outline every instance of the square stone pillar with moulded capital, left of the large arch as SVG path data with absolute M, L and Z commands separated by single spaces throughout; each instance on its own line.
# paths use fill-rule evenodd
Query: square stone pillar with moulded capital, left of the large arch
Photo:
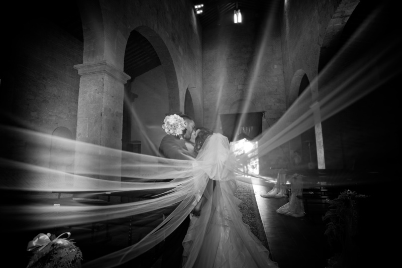
M 106 61 L 74 68 L 81 76 L 76 141 L 99 146 L 90 156 L 77 146 L 75 170 L 79 174 L 90 168 L 93 177 L 105 178 L 106 169 L 113 169 L 113 176 L 106 179 L 120 180 L 124 84 L 130 76 Z

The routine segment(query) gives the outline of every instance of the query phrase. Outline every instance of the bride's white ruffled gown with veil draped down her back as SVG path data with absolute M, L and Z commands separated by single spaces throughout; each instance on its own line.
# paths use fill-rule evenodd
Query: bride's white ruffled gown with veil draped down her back
M 205 187 L 206 199 L 201 215 L 191 217 L 183 240 L 183 267 L 278 267 L 242 220 L 238 207 L 241 201 L 234 196 L 235 162 L 228 139 L 214 133 L 196 161 L 208 177 L 194 187 Z

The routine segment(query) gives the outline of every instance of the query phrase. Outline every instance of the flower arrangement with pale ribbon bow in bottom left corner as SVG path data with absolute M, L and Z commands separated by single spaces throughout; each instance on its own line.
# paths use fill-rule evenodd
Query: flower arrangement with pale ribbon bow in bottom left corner
M 70 233 L 54 234 L 40 233 L 28 243 L 27 250 L 33 251 L 27 268 L 78 268 L 81 267 L 82 252 L 67 238 L 60 238 Z

